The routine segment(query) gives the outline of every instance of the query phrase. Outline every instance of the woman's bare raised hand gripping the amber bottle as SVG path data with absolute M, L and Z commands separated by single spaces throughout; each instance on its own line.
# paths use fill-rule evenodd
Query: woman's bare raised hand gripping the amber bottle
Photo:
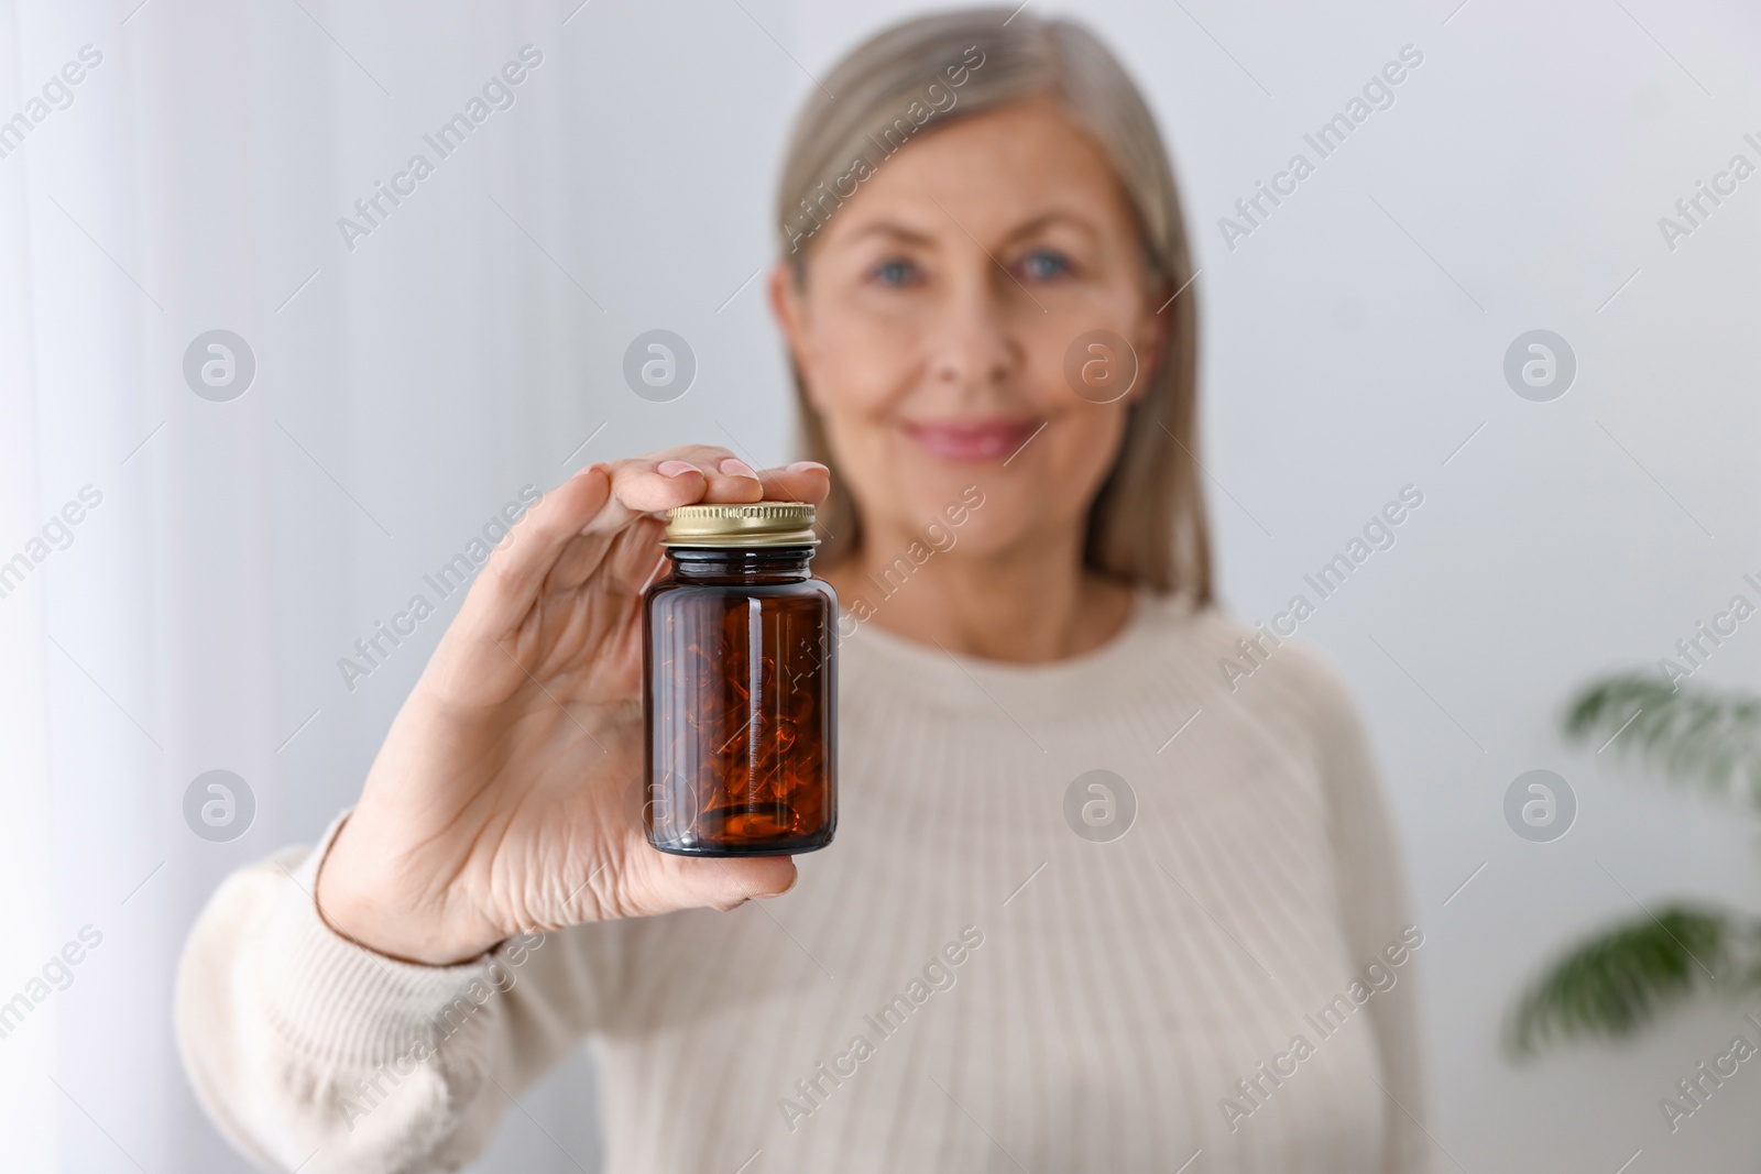
M 472 584 L 391 725 L 317 882 L 324 919 L 393 958 L 444 965 L 527 929 L 637 917 L 794 884 L 789 857 L 648 845 L 643 588 L 659 510 L 819 503 L 829 477 L 754 473 L 729 451 L 592 465 L 541 498 Z

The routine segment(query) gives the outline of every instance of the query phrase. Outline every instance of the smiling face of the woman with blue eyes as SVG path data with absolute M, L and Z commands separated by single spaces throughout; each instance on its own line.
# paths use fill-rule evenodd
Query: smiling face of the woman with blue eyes
M 1166 320 L 1101 148 L 1039 99 L 932 125 L 810 248 L 805 289 L 778 268 L 771 299 L 870 532 L 946 526 L 967 486 L 984 495 L 958 532 L 969 553 L 1079 528 Z M 1065 378 L 1097 329 L 1141 371 L 1111 403 Z

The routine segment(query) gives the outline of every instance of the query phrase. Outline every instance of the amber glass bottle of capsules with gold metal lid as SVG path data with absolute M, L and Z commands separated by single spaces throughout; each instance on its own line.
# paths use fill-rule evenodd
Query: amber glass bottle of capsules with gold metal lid
M 814 507 L 683 505 L 643 600 L 648 841 L 787 855 L 838 824 L 838 597 L 808 572 Z

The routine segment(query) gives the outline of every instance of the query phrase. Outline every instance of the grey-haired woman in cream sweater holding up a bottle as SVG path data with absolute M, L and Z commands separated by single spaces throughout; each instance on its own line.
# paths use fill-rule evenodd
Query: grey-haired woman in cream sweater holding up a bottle
M 254 1158 L 454 1169 L 592 1040 L 613 1170 L 1423 1165 L 1365 739 L 1212 605 L 1168 157 L 1094 35 L 1009 16 L 891 28 L 799 118 L 770 296 L 812 459 L 548 493 L 359 803 L 215 894 L 178 1031 Z M 766 498 L 821 505 L 845 607 L 842 825 L 666 855 L 659 514 Z

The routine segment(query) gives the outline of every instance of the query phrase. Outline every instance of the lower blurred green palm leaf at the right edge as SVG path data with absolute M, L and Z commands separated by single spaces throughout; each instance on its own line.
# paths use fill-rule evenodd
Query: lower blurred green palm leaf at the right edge
M 1754 986 L 1761 924 L 1673 905 L 1617 924 L 1553 963 L 1516 1005 L 1507 1047 L 1530 1056 L 1555 1040 L 1622 1038 L 1705 989 Z

